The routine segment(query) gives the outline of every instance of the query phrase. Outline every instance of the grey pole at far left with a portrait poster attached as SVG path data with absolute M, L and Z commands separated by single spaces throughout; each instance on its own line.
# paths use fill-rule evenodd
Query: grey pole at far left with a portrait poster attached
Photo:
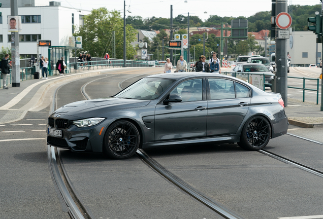
M 11 0 L 11 16 L 18 16 L 18 0 Z M 17 20 L 17 26 L 18 26 L 18 20 Z M 20 56 L 19 56 L 18 32 L 11 32 L 11 60 L 12 60 L 12 70 L 11 70 L 12 83 L 11 84 L 12 84 L 12 87 L 20 87 Z M 36 60 L 36 63 L 39 63 L 39 59 Z

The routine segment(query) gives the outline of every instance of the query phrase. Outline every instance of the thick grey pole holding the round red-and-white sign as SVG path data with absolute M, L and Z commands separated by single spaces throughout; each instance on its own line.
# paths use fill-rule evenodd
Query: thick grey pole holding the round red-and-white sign
M 281 12 L 287 12 L 287 0 L 276 0 L 276 16 Z M 278 39 L 280 29 L 276 24 L 276 72 L 275 92 L 280 93 L 281 98 L 287 106 L 287 43 L 286 39 Z

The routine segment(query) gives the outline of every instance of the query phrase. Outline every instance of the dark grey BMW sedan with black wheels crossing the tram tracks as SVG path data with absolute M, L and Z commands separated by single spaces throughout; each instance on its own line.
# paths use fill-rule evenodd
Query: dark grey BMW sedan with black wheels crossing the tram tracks
M 126 159 L 138 148 L 180 143 L 237 142 L 256 151 L 287 129 L 280 94 L 230 76 L 183 72 L 148 76 L 114 96 L 58 108 L 48 118 L 47 143 Z

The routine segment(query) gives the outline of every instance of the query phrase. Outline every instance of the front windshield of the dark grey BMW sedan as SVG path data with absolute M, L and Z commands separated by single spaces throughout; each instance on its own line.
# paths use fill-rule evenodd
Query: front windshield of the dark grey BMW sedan
M 160 96 L 175 80 L 143 78 L 115 95 L 117 98 L 151 100 Z

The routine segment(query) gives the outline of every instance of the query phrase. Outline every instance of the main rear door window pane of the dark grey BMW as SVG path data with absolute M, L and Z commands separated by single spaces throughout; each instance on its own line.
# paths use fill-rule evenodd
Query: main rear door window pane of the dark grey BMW
M 233 81 L 210 78 L 209 84 L 211 100 L 235 98 L 235 87 Z

